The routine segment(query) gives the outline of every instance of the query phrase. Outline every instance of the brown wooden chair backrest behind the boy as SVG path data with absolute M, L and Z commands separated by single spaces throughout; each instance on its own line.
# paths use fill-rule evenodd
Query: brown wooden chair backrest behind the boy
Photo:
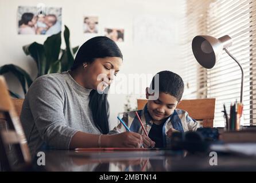
M 144 108 L 148 100 L 138 99 L 138 110 Z M 188 112 L 189 116 L 198 121 L 203 121 L 203 127 L 214 126 L 215 98 L 182 100 L 177 109 L 183 109 Z

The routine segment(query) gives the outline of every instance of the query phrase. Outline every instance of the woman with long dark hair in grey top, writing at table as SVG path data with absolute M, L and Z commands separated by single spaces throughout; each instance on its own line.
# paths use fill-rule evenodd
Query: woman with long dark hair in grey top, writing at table
M 32 83 L 21 112 L 32 156 L 45 148 L 141 145 L 137 133 L 107 134 L 109 107 L 102 92 L 118 73 L 122 57 L 114 41 L 94 37 L 79 48 L 71 70 L 43 75 Z

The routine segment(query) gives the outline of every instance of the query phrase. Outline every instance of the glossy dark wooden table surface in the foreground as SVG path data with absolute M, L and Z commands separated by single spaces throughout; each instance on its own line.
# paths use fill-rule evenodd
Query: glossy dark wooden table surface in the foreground
M 185 154 L 171 150 L 147 152 L 82 152 L 49 150 L 45 152 L 47 171 L 256 171 L 256 157 L 218 154 L 218 165 L 211 166 L 207 153 Z

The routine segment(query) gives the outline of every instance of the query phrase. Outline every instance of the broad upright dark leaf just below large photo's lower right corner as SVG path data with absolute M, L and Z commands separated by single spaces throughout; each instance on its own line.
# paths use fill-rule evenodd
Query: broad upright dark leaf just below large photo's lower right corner
M 45 74 L 49 73 L 49 67 L 59 59 L 61 45 L 61 31 L 53 34 L 44 42 L 44 50 L 46 57 Z

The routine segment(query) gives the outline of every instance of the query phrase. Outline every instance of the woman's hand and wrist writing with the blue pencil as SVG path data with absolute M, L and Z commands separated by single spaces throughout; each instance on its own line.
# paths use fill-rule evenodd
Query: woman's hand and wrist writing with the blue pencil
M 109 135 L 109 147 L 116 148 L 140 148 L 142 136 L 134 132 L 123 132 Z

